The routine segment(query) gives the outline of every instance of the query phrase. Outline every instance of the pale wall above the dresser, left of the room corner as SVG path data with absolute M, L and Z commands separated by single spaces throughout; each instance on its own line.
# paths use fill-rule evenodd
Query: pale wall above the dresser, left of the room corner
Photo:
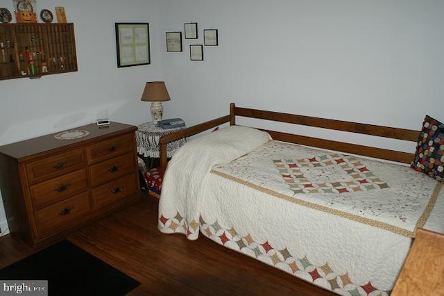
M 0 81 L 0 145 L 89 124 L 98 117 L 128 124 L 150 117 L 149 106 L 140 101 L 144 83 L 164 79 L 157 1 L 37 0 L 35 10 L 47 8 L 56 19 L 55 6 L 65 7 L 68 22 L 74 23 L 78 72 Z M 0 7 L 12 12 L 12 0 L 0 0 Z M 151 65 L 117 68 L 115 22 L 150 23 Z M 2 203 L 0 227 L 6 228 Z

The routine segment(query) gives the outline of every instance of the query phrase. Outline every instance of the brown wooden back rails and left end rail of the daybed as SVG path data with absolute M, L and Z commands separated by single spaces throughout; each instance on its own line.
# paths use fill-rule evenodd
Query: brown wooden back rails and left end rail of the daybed
M 216 118 L 195 126 L 190 126 L 186 129 L 163 135 L 160 138 L 160 174 L 164 174 L 167 168 L 167 143 L 180 138 L 196 135 L 215 126 L 230 122 L 230 125 L 236 124 L 236 117 L 250 117 L 261 120 L 271 120 L 274 122 L 285 122 L 291 124 L 298 124 L 304 126 L 314 126 L 323 129 L 332 129 L 336 131 L 348 131 L 350 133 L 361 133 L 365 135 L 376 135 L 383 138 L 392 138 L 398 140 L 407 140 L 416 142 L 420 131 L 411 129 L 398 129 L 388 126 L 378 126 L 373 124 L 361 124 L 357 122 L 345 122 L 341 120 L 329 120 L 320 117 L 309 117 L 304 115 L 293 115 L 288 113 L 278 113 L 266 110 L 257 110 L 251 108 L 240 108 L 230 104 L 230 115 Z M 254 127 L 254 126 L 252 126 Z M 323 149 L 330 149 L 334 151 L 341 151 L 350 154 L 357 154 L 361 156 L 368 156 L 373 158 L 384 159 L 386 161 L 395 161 L 398 163 L 411 163 L 413 161 L 413 153 L 402 151 L 395 151 L 390 149 L 382 149 L 377 147 L 369 147 L 364 145 L 357 145 L 348 142 L 339 142 L 334 140 L 327 140 L 322 138 L 312 138 L 306 135 L 296 135 L 291 133 L 282 133 L 279 131 L 268 131 L 274 140 L 284 142 L 291 142 L 310 147 L 318 147 Z

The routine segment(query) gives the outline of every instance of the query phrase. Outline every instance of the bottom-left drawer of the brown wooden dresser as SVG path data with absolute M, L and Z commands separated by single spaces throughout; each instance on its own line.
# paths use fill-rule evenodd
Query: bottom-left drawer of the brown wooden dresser
M 41 236 L 44 233 L 65 229 L 89 214 L 91 210 L 88 192 L 42 208 L 36 211 L 34 216 L 37 233 Z

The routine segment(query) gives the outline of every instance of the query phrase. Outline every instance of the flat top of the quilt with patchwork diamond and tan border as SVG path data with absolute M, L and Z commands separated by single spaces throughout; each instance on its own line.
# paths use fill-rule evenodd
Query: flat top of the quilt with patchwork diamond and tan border
M 407 166 L 276 141 L 216 165 L 212 172 L 289 202 L 412 238 L 427 221 L 441 188 Z M 430 227 L 444 231 L 442 224 Z

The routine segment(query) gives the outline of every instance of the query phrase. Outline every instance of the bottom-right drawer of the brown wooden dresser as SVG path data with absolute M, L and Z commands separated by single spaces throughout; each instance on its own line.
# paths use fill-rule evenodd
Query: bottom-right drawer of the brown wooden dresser
M 103 208 L 133 195 L 137 191 L 137 176 L 128 174 L 92 190 L 94 209 Z

